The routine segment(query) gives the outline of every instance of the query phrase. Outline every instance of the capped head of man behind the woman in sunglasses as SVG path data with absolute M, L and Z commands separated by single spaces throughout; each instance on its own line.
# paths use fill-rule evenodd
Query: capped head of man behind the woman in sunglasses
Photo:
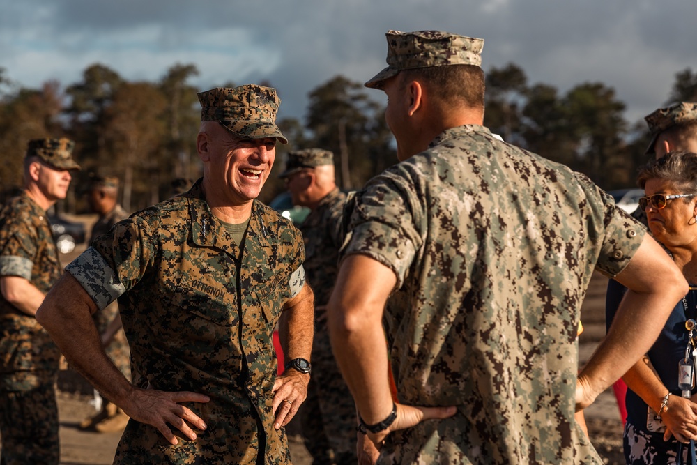
M 661 158 L 668 151 L 696 151 L 697 103 L 679 102 L 645 116 L 651 134 L 647 155 Z

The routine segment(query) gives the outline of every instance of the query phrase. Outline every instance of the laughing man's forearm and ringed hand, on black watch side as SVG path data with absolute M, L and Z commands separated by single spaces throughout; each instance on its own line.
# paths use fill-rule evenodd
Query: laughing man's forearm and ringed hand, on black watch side
M 314 337 L 313 294 L 307 282 L 297 296 L 283 306 L 278 321 L 279 339 L 287 360 L 312 356 Z M 276 418 L 273 427 L 279 429 L 288 424 L 298 412 L 298 407 L 307 397 L 309 374 L 286 369 L 273 384 L 273 412 Z

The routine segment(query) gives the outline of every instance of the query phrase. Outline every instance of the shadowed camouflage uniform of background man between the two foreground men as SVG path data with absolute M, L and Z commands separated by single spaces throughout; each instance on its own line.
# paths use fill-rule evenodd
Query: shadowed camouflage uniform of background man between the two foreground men
M 329 152 L 331 153 L 331 152 Z M 331 159 L 330 159 L 331 161 Z M 315 327 L 312 377 L 302 404 L 305 447 L 316 460 L 331 449 L 337 465 L 355 464 L 355 404 L 332 354 L 326 323 L 326 305 L 337 279 L 340 224 L 346 195 L 335 189 L 324 197 L 300 224 L 305 242 L 305 273 L 314 291 Z M 319 441 L 325 438 L 326 441 Z

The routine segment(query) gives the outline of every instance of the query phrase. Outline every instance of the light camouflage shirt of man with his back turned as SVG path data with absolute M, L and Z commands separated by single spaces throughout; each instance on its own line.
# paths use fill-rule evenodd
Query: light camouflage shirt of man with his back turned
M 574 421 L 581 303 L 644 228 L 567 167 L 480 125 L 441 133 L 349 201 L 342 250 L 397 275 L 400 402 L 458 407 L 390 434 L 385 464 L 602 464 Z

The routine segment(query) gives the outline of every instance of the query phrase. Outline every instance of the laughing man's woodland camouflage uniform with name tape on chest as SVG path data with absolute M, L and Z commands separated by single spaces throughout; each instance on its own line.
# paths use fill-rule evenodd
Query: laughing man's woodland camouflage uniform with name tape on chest
M 273 330 L 304 282 L 291 282 L 305 258 L 300 231 L 254 201 L 239 256 L 199 180 L 117 223 L 66 268 L 98 307 L 118 296 L 134 383 L 211 399 L 187 404 L 208 429 L 176 446 L 130 420 L 116 463 L 256 464 L 260 445 L 264 463 L 289 463 L 284 429 L 273 429 Z

